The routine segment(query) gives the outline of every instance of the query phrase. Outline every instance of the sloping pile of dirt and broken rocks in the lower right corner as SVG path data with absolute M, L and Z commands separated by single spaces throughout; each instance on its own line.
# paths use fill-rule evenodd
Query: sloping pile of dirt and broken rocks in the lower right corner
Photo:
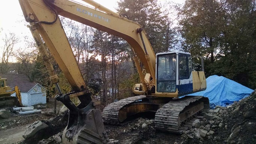
M 182 137 L 184 143 L 256 143 L 255 92 L 227 108 L 209 110 Z

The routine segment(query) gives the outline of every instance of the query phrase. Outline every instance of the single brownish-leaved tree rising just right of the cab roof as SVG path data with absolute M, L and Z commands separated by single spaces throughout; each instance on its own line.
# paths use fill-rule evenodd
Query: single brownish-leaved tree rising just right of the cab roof
M 183 49 L 197 59 L 206 55 L 213 63 L 223 26 L 220 3 L 215 0 L 186 0 L 180 15 Z

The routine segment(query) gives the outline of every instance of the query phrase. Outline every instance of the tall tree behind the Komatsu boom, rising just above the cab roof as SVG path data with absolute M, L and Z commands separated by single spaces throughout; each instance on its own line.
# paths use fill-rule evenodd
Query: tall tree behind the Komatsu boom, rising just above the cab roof
M 142 26 L 155 53 L 165 51 L 166 16 L 156 0 L 121 0 L 117 11 Z

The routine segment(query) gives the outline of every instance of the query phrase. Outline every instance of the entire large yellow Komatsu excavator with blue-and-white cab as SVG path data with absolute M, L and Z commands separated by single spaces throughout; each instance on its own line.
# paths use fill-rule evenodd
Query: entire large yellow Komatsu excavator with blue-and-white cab
M 185 96 L 206 89 L 204 72 L 192 71 L 190 53 L 163 52 L 155 55 L 138 23 L 92 0 L 83 1 L 94 7 L 71 0 L 19 0 L 50 79 L 58 90 L 56 98 L 69 109 L 68 125 L 62 135 L 64 144 L 113 144 L 115 141 L 108 139 L 103 120 L 118 124 L 128 116 L 144 111 L 156 112 L 156 129 L 181 133 L 187 129 L 190 119 L 197 117 L 204 108 L 209 108 L 208 98 Z M 134 92 L 140 96 L 111 103 L 102 114 L 96 110 L 58 15 L 126 40 L 135 54 L 134 61 L 142 81 L 134 86 Z M 73 92 L 62 94 L 42 39 Z M 148 74 L 142 73 L 139 60 Z M 180 96 L 185 97 L 178 98 Z M 78 97 L 81 103 L 75 106 L 70 97 Z

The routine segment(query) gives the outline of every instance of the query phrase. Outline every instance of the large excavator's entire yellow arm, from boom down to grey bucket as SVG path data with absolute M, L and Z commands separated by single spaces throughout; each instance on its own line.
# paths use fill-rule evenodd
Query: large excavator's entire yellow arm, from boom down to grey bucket
M 140 59 L 154 81 L 155 54 L 145 32 L 138 23 L 120 17 L 94 1 L 84 1 L 103 11 L 69 0 L 19 0 L 23 15 L 30 23 L 28 27 L 30 27 L 49 71 L 50 79 L 58 89 L 57 100 L 69 108 L 69 122 L 63 132 L 63 143 L 114 143 L 110 142 L 107 137 L 100 110 L 95 110 L 95 105 L 91 101 L 89 90 L 85 85 L 58 15 L 126 40 L 136 55 L 135 61 L 137 60 L 138 63 L 138 58 Z M 62 94 L 58 86 L 58 77 L 49 63 L 49 56 L 42 39 L 74 92 Z M 138 71 L 141 71 L 139 66 L 137 68 Z M 144 81 L 144 76 L 140 75 L 140 77 Z M 146 87 L 145 83 L 144 86 Z M 70 97 L 74 96 L 81 101 L 77 107 L 70 101 Z

